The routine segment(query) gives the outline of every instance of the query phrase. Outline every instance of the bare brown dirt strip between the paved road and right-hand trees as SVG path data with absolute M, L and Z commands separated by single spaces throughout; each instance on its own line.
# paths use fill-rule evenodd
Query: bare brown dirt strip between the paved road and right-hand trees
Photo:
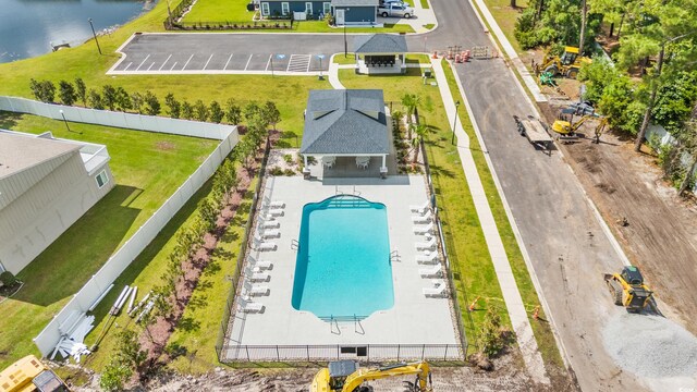
M 653 158 L 634 152 L 632 140 L 606 134 L 602 142 L 564 150 L 661 311 L 697 333 L 697 209 L 676 197 Z M 622 218 L 628 225 L 616 223 Z

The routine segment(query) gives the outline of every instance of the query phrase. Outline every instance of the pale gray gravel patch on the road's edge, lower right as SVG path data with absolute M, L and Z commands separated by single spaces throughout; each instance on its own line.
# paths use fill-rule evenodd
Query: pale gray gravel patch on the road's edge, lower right
M 613 317 L 603 340 L 617 365 L 649 378 L 695 377 L 697 338 L 659 316 L 622 314 Z

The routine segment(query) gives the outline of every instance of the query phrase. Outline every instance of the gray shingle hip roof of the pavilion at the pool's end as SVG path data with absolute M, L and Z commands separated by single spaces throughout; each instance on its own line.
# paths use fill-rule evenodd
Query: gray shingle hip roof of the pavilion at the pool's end
M 382 90 L 310 90 L 302 154 L 389 154 Z

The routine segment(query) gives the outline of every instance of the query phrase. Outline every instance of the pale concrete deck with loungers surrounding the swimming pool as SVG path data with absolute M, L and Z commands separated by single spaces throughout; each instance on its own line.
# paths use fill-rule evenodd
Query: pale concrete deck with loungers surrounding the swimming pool
M 355 193 L 354 193 L 355 192 Z M 359 323 L 347 320 L 328 322 L 308 311 L 295 310 L 291 305 L 296 250 L 293 242 L 301 230 L 303 206 L 343 194 L 355 194 L 387 206 L 390 249 L 399 253 L 392 261 L 394 306 L 372 314 Z M 270 261 L 267 282 L 255 285 L 269 287 L 269 295 L 252 297 L 265 306 L 264 313 L 243 313 L 235 309 L 227 342 L 227 357 L 246 359 L 239 345 L 380 345 L 380 344 L 449 344 L 457 345 L 456 327 L 448 296 L 426 297 L 424 287 L 432 286 L 432 279 L 421 278 L 419 269 L 429 265 L 416 262 L 415 243 L 425 241 L 414 234 L 409 206 L 424 205 L 427 185 L 423 175 L 394 175 L 380 179 L 325 179 L 306 181 L 302 176 L 269 176 L 259 201 L 259 216 L 264 217 L 269 201 L 283 201 L 284 215 L 277 217 L 280 237 L 266 240 L 274 243 L 276 250 L 249 255 L 260 261 Z M 248 280 L 245 275 L 241 280 Z M 449 357 L 458 353 L 451 346 Z M 335 355 L 335 351 L 333 352 Z M 269 353 L 270 357 L 277 353 Z M 437 355 L 443 355 L 439 353 Z M 262 359 L 262 358 L 259 358 Z

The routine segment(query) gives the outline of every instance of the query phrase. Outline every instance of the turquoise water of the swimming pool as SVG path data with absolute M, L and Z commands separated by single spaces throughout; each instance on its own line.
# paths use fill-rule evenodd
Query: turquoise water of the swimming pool
M 292 303 L 319 318 L 394 305 L 384 205 L 342 195 L 303 207 Z

